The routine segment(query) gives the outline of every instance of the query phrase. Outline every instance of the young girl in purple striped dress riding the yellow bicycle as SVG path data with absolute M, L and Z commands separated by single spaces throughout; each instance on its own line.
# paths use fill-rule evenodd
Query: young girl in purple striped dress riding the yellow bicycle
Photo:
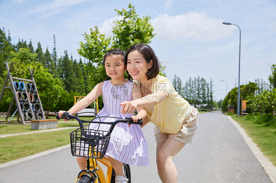
M 143 108 L 137 108 L 138 114 L 121 114 L 120 102 L 131 101 L 141 97 L 139 88 L 134 82 L 124 78 L 126 52 L 121 49 L 111 49 L 104 56 L 104 66 L 108 78 L 95 86 L 82 100 L 77 102 L 68 112 L 78 113 L 86 108 L 101 94 L 103 95 L 104 108 L 98 113 L 99 116 L 133 117 L 134 120 L 145 117 Z M 111 78 L 111 80 L 108 80 Z M 59 116 L 65 111 L 59 111 Z M 101 121 L 115 121 L 115 118 L 101 117 Z M 98 124 L 90 124 L 89 129 L 98 129 Z M 99 130 L 108 130 L 109 125 L 100 125 Z M 113 129 L 109 146 L 106 152 L 116 173 L 116 183 L 127 183 L 124 176 L 122 163 L 137 166 L 148 166 L 147 142 L 139 125 L 127 125 L 118 123 Z M 77 157 L 78 164 L 83 170 L 86 168 L 86 158 Z

